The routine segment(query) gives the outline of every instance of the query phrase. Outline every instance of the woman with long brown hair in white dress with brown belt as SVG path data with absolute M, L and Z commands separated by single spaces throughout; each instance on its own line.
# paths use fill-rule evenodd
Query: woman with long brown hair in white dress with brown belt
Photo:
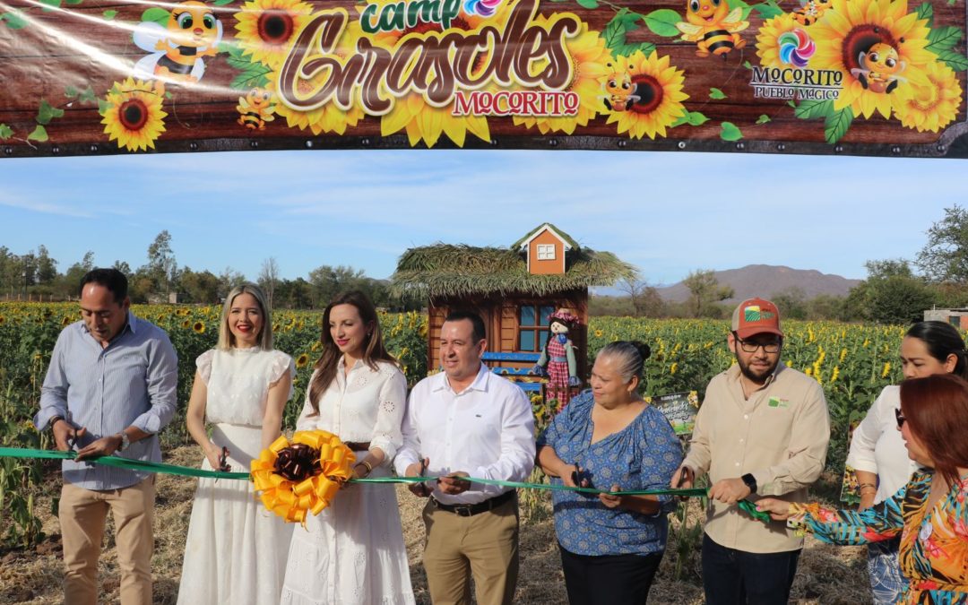
M 341 294 L 322 316 L 322 355 L 296 429 L 339 436 L 356 454 L 356 477 L 385 477 L 403 444 L 407 378 L 383 347 L 373 303 Z M 328 508 L 295 527 L 284 605 L 411 605 L 413 590 L 396 491 L 349 484 Z

